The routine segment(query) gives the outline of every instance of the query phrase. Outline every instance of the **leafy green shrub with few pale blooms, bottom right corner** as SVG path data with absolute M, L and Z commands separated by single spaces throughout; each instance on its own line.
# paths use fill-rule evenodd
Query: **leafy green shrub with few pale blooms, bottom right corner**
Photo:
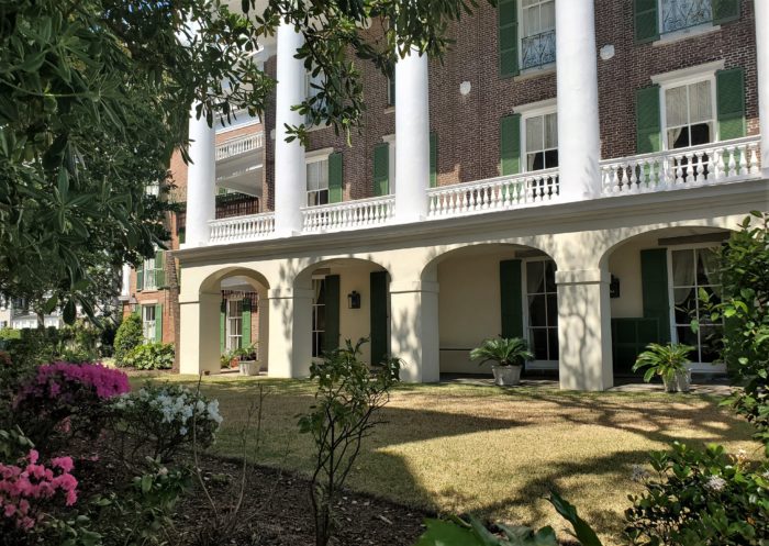
M 656 477 L 632 497 L 625 533 L 636 545 L 759 545 L 769 537 L 769 465 L 673 444 L 651 456 Z

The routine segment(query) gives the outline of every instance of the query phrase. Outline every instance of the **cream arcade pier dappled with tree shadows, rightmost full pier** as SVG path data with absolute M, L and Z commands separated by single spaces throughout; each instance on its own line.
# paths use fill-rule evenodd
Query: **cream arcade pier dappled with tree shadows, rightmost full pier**
M 567 390 L 605 390 L 614 385 L 609 271 L 556 271 L 558 375 Z

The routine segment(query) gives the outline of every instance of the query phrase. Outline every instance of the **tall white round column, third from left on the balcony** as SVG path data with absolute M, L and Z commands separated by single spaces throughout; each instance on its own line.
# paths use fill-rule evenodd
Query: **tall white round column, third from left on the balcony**
M 395 221 L 427 215 L 430 99 L 427 55 L 395 63 Z

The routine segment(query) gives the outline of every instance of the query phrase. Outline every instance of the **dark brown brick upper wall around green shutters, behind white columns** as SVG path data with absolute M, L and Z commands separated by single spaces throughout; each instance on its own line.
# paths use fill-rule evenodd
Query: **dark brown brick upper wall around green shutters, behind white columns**
M 561 0 L 568 1 L 568 0 Z M 633 0 L 595 2 L 597 46 L 613 45 L 612 59 L 598 58 L 601 153 L 603 158 L 635 154 L 635 90 L 650 77 L 670 70 L 724 59 L 725 67 L 746 69 L 748 133 L 758 133 L 756 46 L 753 2 L 742 2 L 738 21 L 721 30 L 665 45 L 634 42 Z M 374 31 L 372 31 L 374 32 Z M 515 107 L 556 97 L 555 68 L 525 76 L 499 76 L 497 9 L 481 3 L 470 16 L 449 27 L 455 45 L 443 65 L 430 65 L 431 130 L 438 134 L 438 183 L 449 185 L 499 176 L 499 120 Z M 275 76 L 276 58 L 266 64 Z M 372 66 L 363 67 L 366 112 L 363 134 L 348 147 L 333 129 L 310 133 L 308 151 L 333 147 L 344 153 L 344 199 L 372 194 L 372 149 L 394 133 L 394 112 L 387 104 L 387 79 Z M 459 85 L 469 81 L 462 97 Z M 265 204 L 274 210 L 275 102 L 267 104 L 265 134 Z

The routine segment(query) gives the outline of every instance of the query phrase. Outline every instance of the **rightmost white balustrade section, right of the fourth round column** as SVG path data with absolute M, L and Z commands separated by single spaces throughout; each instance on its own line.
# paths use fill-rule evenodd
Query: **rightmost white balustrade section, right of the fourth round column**
M 601 193 L 615 196 L 760 176 L 759 136 L 601 161 Z

